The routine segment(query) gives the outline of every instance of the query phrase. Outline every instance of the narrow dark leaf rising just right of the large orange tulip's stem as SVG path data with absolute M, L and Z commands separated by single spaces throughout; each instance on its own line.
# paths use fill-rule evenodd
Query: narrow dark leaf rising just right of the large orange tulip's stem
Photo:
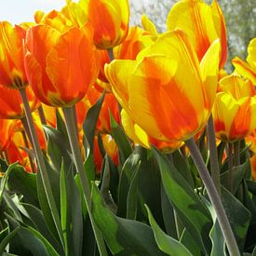
M 104 101 L 104 97 L 105 93 L 102 93 L 101 98 L 88 110 L 87 118 L 83 124 L 84 134 L 87 138 L 91 152 L 93 152 L 95 129 L 98 122 L 98 117 L 101 112 L 101 105 Z

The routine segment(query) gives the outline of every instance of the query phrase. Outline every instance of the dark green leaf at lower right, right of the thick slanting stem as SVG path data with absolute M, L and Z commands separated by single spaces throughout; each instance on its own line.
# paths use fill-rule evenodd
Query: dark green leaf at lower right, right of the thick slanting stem
M 236 237 L 237 245 L 240 251 L 243 251 L 251 217 L 250 212 L 223 186 L 222 204 Z

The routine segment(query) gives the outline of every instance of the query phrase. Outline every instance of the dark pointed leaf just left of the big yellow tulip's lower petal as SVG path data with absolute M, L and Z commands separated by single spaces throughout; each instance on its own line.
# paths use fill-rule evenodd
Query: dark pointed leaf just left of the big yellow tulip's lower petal
M 128 137 L 125 134 L 123 128 L 121 128 L 115 121 L 113 115 L 110 114 L 110 125 L 112 136 L 117 144 L 119 150 L 119 160 L 121 166 L 126 162 L 128 156 L 132 153 L 131 144 L 128 141 Z

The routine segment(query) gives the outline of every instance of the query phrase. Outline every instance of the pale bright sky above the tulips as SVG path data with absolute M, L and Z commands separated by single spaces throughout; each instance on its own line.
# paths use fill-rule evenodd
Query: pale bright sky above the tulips
M 142 2 L 149 0 L 130 0 L 140 8 Z M 0 20 L 8 20 L 19 24 L 24 21 L 34 21 L 34 12 L 38 9 L 48 12 L 61 9 L 65 0 L 0 0 Z

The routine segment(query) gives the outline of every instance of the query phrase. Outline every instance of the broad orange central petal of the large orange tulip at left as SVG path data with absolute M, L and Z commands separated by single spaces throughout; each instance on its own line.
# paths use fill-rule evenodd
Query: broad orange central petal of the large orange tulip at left
M 47 75 L 58 94 L 48 94 L 59 106 L 80 101 L 99 73 L 95 48 L 90 35 L 78 28 L 61 34 L 47 54 Z

